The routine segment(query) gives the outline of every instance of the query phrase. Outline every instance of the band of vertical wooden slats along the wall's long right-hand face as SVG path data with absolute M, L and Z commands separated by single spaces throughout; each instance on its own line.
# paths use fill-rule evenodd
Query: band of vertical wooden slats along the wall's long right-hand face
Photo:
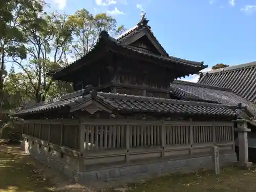
M 226 122 L 174 122 L 174 124 L 82 124 L 85 150 L 192 145 L 233 141 L 233 127 Z M 181 124 L 181 125 L 179 125 Z M 222 125 L 222 126 L 221 126 Z

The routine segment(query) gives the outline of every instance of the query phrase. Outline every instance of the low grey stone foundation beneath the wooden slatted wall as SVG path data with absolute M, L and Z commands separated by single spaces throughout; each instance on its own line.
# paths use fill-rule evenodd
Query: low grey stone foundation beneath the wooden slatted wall
M 28 144 L 27 141 L 22 142 L 22 148 L 28 151 L 31 156 L 39 161 L 44 162 L 49 167 L 57 169 L 60 173 L 67 176 L 74 182 L 81 184 L 87 184 L 98 181 L 110 181 L 110 180 L 122 180 L 131 182 L 131 178 L 136 179 L 138 176 L 147 178 L 149 175 L 164 175 L 169 173 L 188 173 L 196 172 L 198 169 L 205 168 L 210 169 L 213 166 L 212 157 L 200 156 L 190 157 L 183 159 L 171 159 L 162 160 L 158 162 L 144 163 L 144 164 L 130 164 L 126 166 L 116 166 L 111 168 L 89 170 L 85 172 L 78 172 L 78 167 L 74 166 L 70 168 L 61 163 L 57 156 L 49 155 L 49 153 L 43 148 L 35 148 Z M 227 154 L 220 154 L 220 166 L 226 166 L 233 164 L 237 161 L 236 153 L 228 151 Z M 75 170 L 76 169 L 76 170 Z M 135 177 L 136 176 L 136 177 Z

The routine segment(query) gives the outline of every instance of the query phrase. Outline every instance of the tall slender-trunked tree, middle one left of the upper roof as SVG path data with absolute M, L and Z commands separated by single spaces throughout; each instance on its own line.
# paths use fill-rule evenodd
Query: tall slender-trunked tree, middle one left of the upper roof
M 40 19 L 24 18 L 20 26 L 25 32 L 27 60 L 15 56 L 12 59 L 26 74 L 26 89 L 30 89 L 28 96 L 36 102 L 44 101 L 50 89 L 57 86 L 47 72 L 59 68 L 65 62 L 63 53 L 72 40 L 73 28 L 67 22 L 67 15 L 56 12 L 44 14 Z

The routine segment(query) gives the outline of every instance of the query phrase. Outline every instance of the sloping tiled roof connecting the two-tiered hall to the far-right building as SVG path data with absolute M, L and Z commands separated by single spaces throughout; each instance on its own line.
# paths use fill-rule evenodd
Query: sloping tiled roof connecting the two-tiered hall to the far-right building
M 237 104 L 249 106 L 256 115 L 256 105 L 238 96 L 236 93 L 219 87 L 207 86 L 205 84 L 174 80 L 170 84 L 171 94 L 186 100 L 205 100 L 207 102 L 218 102 L 222 104 Z

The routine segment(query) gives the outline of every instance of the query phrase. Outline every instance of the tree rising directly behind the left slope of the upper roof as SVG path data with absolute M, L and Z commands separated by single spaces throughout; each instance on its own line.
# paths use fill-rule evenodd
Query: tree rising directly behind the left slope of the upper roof
M 101 31 L 112 34 L 123 32 L 124 26 L 117 27 L 116 19 L 105 13 L 93 16 L 88 10 L 81 9 L 69 16 L 69 22 L 74 26 L 72 51 L 76 59 L 88 53 L 96 44 Z

